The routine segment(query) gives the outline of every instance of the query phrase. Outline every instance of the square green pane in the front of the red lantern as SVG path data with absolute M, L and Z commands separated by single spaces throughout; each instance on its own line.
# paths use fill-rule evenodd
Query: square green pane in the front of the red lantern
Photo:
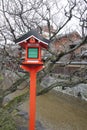
M 28 58 L 38 58 L 38 48 L 28 48 Z

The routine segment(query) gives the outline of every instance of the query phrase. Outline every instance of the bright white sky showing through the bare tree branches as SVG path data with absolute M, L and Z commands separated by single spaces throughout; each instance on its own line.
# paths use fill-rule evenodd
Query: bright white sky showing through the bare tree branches
M 23 0 L 21 0 L 21 1 L 23 1 Z M 29 0 L 27 0 L 27 1 L 29 1 Z M 32 3 L 33 3 L 33 1 L 34 0 L 31 0 Z M 40 0 L 37 0 L 37 1 L 40 1 Z M 57 25 L 57 27 L 61 27 L 61 25 L 66 21 L 64 9 L 66 11 L 69 10 L 69 6 L 66 7 L 66 5 L 68 4 L 67 0 L 43 0 L 43 1 L 46 2 L 48 8 L 49 8 L 49 6 L 51 7 L 50 14 L 52 16 L 53 22 L 55 23 L 55 25 L 52 23 L 54 28 L 56 28 L 56 25 Z M 68 1 L 74 1 L 74 0 L 68 0 Z M 79 0 L 77 0 L 77 1 L 79 1 Z M 82 0 L 80 0 L 80 1 L 82 1 Z M 25 8 L 26 7 L 27 7 L 27 5 L 25 6 Z M 29 6 L 28 6 L 28 8 L 29 8 Z M 45 11 L 45 6 L 43 7 L 43 12 L 44 13 L 46 12 Z M 76 12 L 73 12 L 73 13 L 76 13 Z M 46 16 L 46 17 L 49 17 L 49 16 Z M 3 23 L 2 22 L 3 21 L 3 17 L 2 16 L 1 16 L 1 19 L 2 20 L 0 21 L 0 23 Z M 9 18 L 9 19 L 11 19 L 11 18 Z M 42 22 L 42 24 L 43 23 L 44 22 Z M 69 23 L 66 25 L 66 27 L 64 27 L 63 30 L 60 31 L 60 33 L 64 34 L 64 33 L 67 33 L 67 32 L 69 33 L 69 32 L 75 31 L 75 30 L 78 31 L 81 34 L 81 28 L 79 26 L 79 20 L 76 19 L 75 17 L 73 17 L 69 21 Z

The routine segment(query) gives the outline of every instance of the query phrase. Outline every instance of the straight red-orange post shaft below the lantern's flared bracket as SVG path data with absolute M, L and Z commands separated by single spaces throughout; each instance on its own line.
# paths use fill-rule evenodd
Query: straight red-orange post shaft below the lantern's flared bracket
M 30 72 L 30 120 L 29 130 L 35 130 L 36 117 L 36 71 L 32 69 Z

